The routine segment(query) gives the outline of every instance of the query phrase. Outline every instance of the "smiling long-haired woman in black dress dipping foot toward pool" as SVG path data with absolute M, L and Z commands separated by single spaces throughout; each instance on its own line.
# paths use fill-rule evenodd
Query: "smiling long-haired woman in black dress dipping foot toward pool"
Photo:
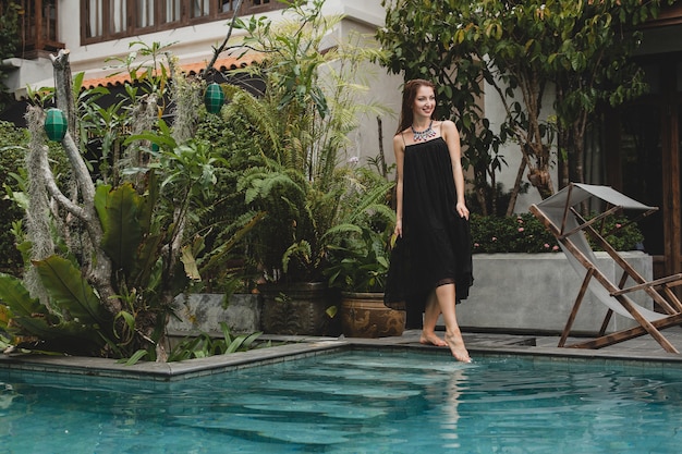
M 470 363 L 455 317 L 455 303 L 468 296 L 473 282 L 468 209 L 464 203 L 460 134 L 453 122 L 435 121 L 435 86 L 405 83 L 398 133 L 397 247 L 391 255 L 385 302 L 406 306 L 407 328 L 422 323 L 421 342 L 449 346 Z M 444 339 L 435 330 L 442 314 Z

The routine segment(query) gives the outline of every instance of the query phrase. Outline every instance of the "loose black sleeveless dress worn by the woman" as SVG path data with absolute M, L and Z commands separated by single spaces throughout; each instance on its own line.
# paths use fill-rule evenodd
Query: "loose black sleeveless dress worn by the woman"
M 403 236 L 391 251 L 383 302 L 407 312 L 406 328 L 422 327 L 426 298 L 455 284 L 456 303 L 473 283 L 468 221 L 456 212 L 456 189 L 442 137 L 405 146 Z

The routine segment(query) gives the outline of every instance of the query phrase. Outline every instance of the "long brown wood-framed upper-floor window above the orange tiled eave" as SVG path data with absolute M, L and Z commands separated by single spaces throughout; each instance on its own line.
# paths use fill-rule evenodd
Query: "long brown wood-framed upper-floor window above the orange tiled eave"
M 85 0 L 83 45 L 231 17 L 236 0 Z M 244 0 L 240 15 L 284 8 L 277 0 Z

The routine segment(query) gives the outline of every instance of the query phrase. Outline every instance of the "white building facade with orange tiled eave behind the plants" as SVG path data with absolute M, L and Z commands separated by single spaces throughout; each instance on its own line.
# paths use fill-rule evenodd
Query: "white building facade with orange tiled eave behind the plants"
M 85 74 L 84 86 L 121 86 L 124 74 L 111 76 L 120 69 L 112 68 L 115 59 L 124 59 L 132 44 L 159 42 L 170 45 L 169 51 L 178 58 L 186 72 L 198 72 L 214 57 L 229 32 L 234 9 L 240 0 L 20 0 L 23 7 L 20 26 L 23 39 L 16 58 L 2 62 L 9 69 L 7 85 L 20 99 L 26 86 L 53 86 L 50 54 L 69 49 L 73 74 Z M 277 0 L 242 0 L 241 17 L 281 16 L 284 4 Z M 380 0 L 327 0 L 326 14 L 342 14 L 343 22 L 336 30 L 338 37 L 350 33 L 373 34 L 381 26 L 385 10 Z M 229 45 L 241 42 L 242 30 L 233 30 Z M 215 68 L 233 68 L 243 49 L 223 52 Z M 248 62 L 248 60 L 245 60 Z M 241 64 L 244 62 L 236 62 Z M 368 77 L 372 101 L 395 111 L 400 103 L 397 94 L 402 79 L 389 76 L 376 68 Z M 16 115 L 22 115 L 17 112 Z M 375 157 L 380 147 L 392 156 L 391 136 L 397 118 L 366 119 L 351 137 L 355 144 L 354 157 Z M 381 138 L 381 139 L 380 139 Z

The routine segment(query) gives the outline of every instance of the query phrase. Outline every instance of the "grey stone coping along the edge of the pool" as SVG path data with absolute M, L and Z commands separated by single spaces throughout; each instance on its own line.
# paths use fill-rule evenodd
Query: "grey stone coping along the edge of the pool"
M 673 334 L 678 345 L 682 345 L 682 330 Z M 403 349 L 422 351 L 429 354 L 449 355 L 447 347 L 423 345 L 419 331 L 405 331 L 401 336 L 381 339 L 316 338 L 264 335 L 264 340 L 283 342 L 282 345 L 238 352 L 229 355 L 216 355 L 207 358 L 175 363 L 139 361 L 126 366 L 114 359 L 39 356 L 39 355 L 0 355 L 0 369 L 29 370 L 44 373 L 69 373 L 75 376 L 97 376 L 141 380 L 175 381 L 193 377 L 220 373 L 227 370 L 253 367 L 256 365 L 280 363 L 340 349 Z M 619 367 L 642 367 L 647 371 L 659 368 L 661 373 L 682 371 L 682 355 L 667 353 L 656 342 L 640 342 L 630 347 L 619 345 L 602 349 L 560 348 L 556 336 L 533 336 L 528 334 L 504 333 L 464 333 L 464 341 L 470 354 L 509 357 L 533 357 L 538 361 L 571 364 L 589 361 L 600 364 L 609 361 Z M 632 342 L 632 341 L 628 341 Z M 624 342 L 623 344 L 628 344 Z

